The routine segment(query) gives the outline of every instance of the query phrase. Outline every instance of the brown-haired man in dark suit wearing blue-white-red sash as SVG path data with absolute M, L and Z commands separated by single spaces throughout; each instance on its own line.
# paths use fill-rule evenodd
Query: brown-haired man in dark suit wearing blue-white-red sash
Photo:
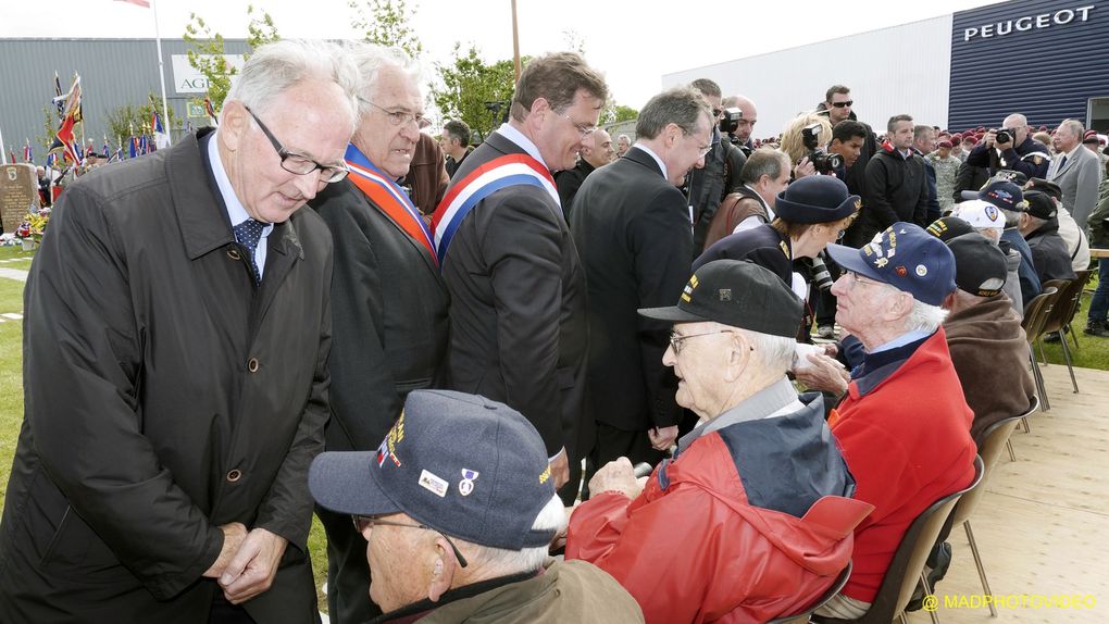
M 588 335 L 586 276 L 550 171 L 573 166 L 607 94 L 578 54 L 532 60 L 508 123 L 455 172 L 433 218 L 450 291 L 450 386 L 531 421 L 557 488 L 580 459 Z

